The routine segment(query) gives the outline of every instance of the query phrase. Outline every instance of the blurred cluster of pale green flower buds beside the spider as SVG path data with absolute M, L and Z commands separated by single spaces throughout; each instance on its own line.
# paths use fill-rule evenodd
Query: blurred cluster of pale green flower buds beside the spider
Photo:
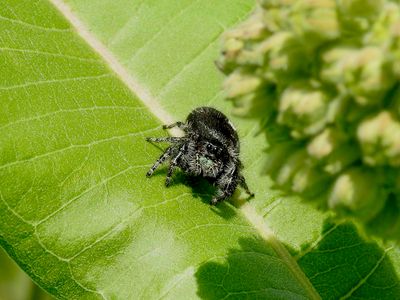
M 399 1 L 259 0 L 218 66 L 279 187 L 400 233 Z

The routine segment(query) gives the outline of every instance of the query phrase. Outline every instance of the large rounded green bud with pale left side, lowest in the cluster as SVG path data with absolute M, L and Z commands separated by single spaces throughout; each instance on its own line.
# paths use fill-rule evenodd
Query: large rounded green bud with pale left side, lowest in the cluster
M 336 179 L 328 204 L 345 214 L 371 220 L 384 206 L 385 198 L 378 174 L 366 168 L 353 168 Z

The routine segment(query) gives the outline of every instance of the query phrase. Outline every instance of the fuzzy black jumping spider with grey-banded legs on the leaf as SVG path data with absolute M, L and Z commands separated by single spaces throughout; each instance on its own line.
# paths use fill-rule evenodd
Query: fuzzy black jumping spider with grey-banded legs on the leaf
M 238 184 L 247 194 L 254 196 L 240 173 L 242 164 L 236 129 L 223 113 L 211 107 L 199 107 L 189 114 L 185 123 L 176 122 L 163 128 L 175 126 L 184 131 L 184 137 L 146 138 L 149 142 L 171 143 L 147 172 L 147 177 L 169 158 L 166 186 L 171 183 L 174 169 L 179 167 L 187 174 L 208 179 L 217 187 L 212 205 L 230 197 Z

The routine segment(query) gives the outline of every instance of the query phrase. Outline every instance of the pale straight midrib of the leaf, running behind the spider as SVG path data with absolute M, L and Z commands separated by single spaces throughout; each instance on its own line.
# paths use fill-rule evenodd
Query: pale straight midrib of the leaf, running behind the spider
M 138 96 L 138 99 L 150 110 L 150 112 L 158 118 L 163 124 L 171 124 L 175 119 L 164 110 L 151 92 L 143 87 L 139 81 L 132 76 L 117 60 L 117 58 L 93 36 L 87 29 L 86 25 L 73 13 L 71 8 L 61 0 L 49 0 L 61 14 L 70 22 L 77 34 L 106 62 L 109 68 L 116 74 L 116 76 L 132 91 L 133 94 Z M 239 20 L 238 20 L 239 22 Z M 170 130 L 172 134 L 180 134 L 179 130 Z M 251 204 L 242 205 L 239 210 L 246 220 L 259 232 L 260 236 L 268 242 L 278 257 L 289 267 L 296 279 L 300 282 L 303 288 L 307 291 L 310 299 L 321 299 L 311 282 L 308 280 L 300 266 L 295 259 L 289 254 L 284 245 L 276 238 L 273 231 L 265 225 L 262 216 L 257 214 L 256 210 Z

